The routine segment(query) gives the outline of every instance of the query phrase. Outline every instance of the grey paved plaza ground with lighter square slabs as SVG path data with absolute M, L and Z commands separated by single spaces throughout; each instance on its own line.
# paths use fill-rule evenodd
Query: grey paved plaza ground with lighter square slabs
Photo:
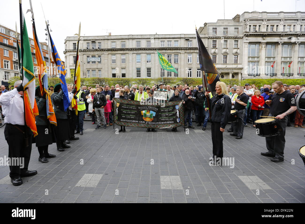
M 84 135 L 71 141 L 64 152 L 48 163 L 38 162 L 33 144 L 29 170 L 38 174 L 10 183 L 9 167 L 0 166 L 0 202 L 25 203 L 305 203 L 305 167 L 298 149 L 305 144 L 305 130 L 286 129 L 284 162 L 260 155 L 267 151 L 265 138 L 245 127 L 242 139 L 224 133 L 224 157 L 234 164 L 210 166 L 210 124 L 202 131 L 178 132 L 112 126 L 95 130 L 84 122 Z M 229 125 L 226 129 L 228 129 Z M 120 128 L 115 125 L 115 128 Z M 0 157 L 8 156 L 0 129 Z M 234 160 L 233 160 L 234 158 Z M 292 164 L 294 163 L 294 164 Z

